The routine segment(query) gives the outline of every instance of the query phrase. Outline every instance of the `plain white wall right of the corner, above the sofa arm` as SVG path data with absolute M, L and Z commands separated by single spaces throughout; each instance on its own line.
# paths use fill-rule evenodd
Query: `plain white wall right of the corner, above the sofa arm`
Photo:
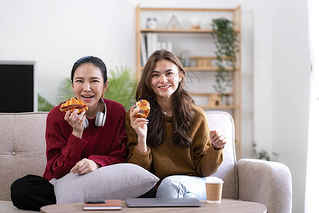
M 310 58 L 307 1 L 254 1 L 254 138 L 291 170 L 303 212 Z

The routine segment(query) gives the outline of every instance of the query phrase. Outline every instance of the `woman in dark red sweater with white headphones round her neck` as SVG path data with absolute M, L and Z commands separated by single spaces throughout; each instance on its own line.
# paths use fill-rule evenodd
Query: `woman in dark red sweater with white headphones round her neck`
M 26 175 L 11 185 L 11 200 L 18 209 L 39 211 L 55 204 L 53 178 L 68 173 L 83 175 L 116 163 L 124 163 L 127 153 L 125 108 L 103 99 L 108 88 L 106 65 L 99 58 L 88 56 L 72 67 L 72 90 L 89 109 L 60 111 L 61 104 L 47 115 L 45 139 L 47 165 L 43 177 Z M 85 127 L 85 128 L 84 128 Z

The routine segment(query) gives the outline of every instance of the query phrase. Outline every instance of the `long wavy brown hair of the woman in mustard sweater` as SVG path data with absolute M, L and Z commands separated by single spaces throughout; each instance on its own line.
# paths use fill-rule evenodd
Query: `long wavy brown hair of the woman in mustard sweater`
M 179 86 L 173 94 L 172 142 L 176 146 L 184 148 L 190 147 L 192 141 L 186 134 L 191 129 L 193 121 L 193 102 L 189 93 L 184 90 L 185 71 L 183 70 L 181 62 L 179 62 L 179 59 L 173 53 L 167 50 L 156 50 L 150 55 L 136 90 L 136 101 L 147 99 L 147 101 L 150 102 L 150 115 L 147 117 L 147 119 L 150 120 L 149 124 L 147 124 L 147 145 L 157 147 L 163 143 L 165 137 L 164 113 L 159 108 L 156 94 L 151 84 L 152 72 L 159 60 L 172 62 L 178 67 L 179 73 L 182 74 L 181 82 L 179 82 Z

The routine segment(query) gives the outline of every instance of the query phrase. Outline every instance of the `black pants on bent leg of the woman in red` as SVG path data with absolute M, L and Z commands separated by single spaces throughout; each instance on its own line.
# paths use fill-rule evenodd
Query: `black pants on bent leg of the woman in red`
M 14 181 L 11 185 L 11 200 L 18 209 L 33 211 L 57 203 L 54 186 L 37 175 L 26 175 Z

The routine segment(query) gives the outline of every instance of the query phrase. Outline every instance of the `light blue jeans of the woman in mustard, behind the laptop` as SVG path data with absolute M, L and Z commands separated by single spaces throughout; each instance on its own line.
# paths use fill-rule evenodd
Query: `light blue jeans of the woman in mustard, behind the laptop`
M 172 175 L 162 180 L 156 197 L 182 198 L 197 197 L 206 200 L 206 178 L 186 175 Z

